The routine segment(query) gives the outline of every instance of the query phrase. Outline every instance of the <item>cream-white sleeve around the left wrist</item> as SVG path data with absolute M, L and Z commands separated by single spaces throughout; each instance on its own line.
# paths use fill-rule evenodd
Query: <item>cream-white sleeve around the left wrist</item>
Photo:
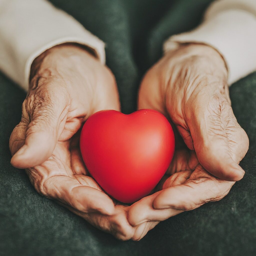
M 33 60 L 65 42 L 85 45 L 105 62 L 104 43 L 49 2 L 0 0 L 0 69 L 25 90 Z

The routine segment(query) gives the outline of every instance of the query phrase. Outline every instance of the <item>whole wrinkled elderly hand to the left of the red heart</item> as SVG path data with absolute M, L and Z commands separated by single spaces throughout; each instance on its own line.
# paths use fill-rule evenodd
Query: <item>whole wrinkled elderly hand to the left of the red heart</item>
M 81 158 L 81 125 L 103 109 L 120 110 L 111 71 L 76 45 L 47 50 L 31 67 L 22 119 L 10 137 L 11 163 L 26 168 L 40 194 L 119 239 L 136 240 L 151 226 L 132 227 L 129 208 L 101 190 Z

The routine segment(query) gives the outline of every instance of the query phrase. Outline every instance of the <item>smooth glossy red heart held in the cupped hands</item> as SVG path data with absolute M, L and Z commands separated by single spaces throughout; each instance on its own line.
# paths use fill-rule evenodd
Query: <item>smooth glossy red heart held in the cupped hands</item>
M 80 137 L 90 174 L 106 193 L 124 203 L 152 191 L 173 158 L 174 146 L 172 126 L 151 109 L 130 115 L 99 111 L 85 122 Z

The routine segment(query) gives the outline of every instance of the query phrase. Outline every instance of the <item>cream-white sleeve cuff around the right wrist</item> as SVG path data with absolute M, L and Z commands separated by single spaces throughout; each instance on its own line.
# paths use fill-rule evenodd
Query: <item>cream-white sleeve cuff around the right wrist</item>
M 180 43 L 196 42 L 214 47 L 228 67 L 228 83 L 256 70 L 256 0 L 218 0 L 207 9 L 196 29 L 174 35 L 164 51 Z

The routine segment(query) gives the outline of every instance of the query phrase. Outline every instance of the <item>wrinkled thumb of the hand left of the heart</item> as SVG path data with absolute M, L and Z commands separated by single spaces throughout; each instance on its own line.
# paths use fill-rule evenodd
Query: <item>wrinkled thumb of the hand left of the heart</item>
M 26 115 L 29 109 L 29 115 Z M 67 98 L 59 90 L 44 89 L 29 97 L 23 103 L 24 126 L 16 127 L 10 139 L 10 148 L 13 143 L 24 140 L 22 147 L 14 154 L 11 164 L 17 168 L 29 168 L 46 161 L 52 154 L 58 137 L 64 129 L 67 118 Z

